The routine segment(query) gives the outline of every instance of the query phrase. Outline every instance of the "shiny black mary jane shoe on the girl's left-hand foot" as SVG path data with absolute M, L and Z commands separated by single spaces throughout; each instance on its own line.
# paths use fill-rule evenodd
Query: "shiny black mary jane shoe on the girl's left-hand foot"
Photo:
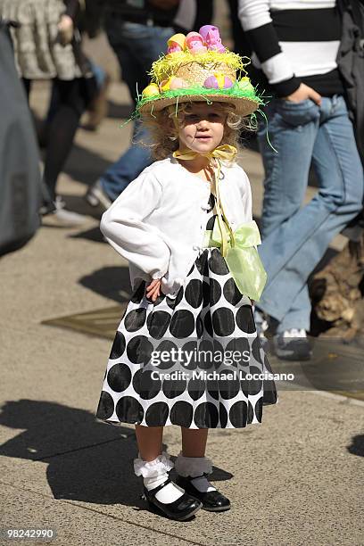
M 170 519 L 185 521 L 185 519 L 194 516 L 197 510 L 203 507 L 203 504 L 186 492 L 184 492 L 177 501 L 170 502 L 169 504 L 158 501 L 158 499 L 155 498 L 156 493 L 170 483 L 172 483 L 172 481 L 168 478 L 165 482 L 158 485 L 158 487 L 154 487 L 151 491 L 144 488 L 144 495 L 142 495 L 142 498 L 145 499 L 148 509 L 153 512 L 161 513 L 164 516 L 170 517 Z

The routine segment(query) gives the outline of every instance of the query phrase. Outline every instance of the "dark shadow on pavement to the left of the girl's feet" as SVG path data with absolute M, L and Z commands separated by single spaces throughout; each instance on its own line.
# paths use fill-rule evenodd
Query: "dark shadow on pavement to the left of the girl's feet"
M 32 400 L 5 402 L 0 425 L 26 429 L 0 446 L 0 455 L 47 463 L 54 499 L 145 509 L 141 480 L 132 467 L 137 456 L 133 428 L 97 422 L 85 409 Z M 212 477 L 231 476 L 214 468 Z

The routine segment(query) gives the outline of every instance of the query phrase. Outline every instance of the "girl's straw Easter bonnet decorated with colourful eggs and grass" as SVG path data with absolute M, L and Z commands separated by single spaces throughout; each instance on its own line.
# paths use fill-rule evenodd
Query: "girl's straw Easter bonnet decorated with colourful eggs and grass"
M 240 55 L 221 44 L 219 29 L 205 25 L 197 32 L 175 34 L 167 54 L 153 62 L 151 84 L 138 97 L 136 113 L 147 118 L 153 112 L 178 103 L 206 101 L 230 103 L 236 114 L 247 116 L 261 104 L 250 79 L 244 74 Z

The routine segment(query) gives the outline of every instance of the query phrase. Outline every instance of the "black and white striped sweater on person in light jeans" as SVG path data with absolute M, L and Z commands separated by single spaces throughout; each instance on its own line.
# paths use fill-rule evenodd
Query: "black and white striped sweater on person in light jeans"
M 252 64 L 277 96 L 291 95 L 301 82 L 321 95 L 343 92 L 335 0 L 239 0 L 239 18 L 252 44 Z

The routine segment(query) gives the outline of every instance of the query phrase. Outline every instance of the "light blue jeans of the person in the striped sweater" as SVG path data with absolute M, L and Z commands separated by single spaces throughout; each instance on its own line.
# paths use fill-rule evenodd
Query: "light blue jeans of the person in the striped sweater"
M 264 162 L 261 261 L 268 273 L 259 309 L 278 321 L 277 332 L 310 330 L 307 279 L 335 235 L 362 208 L 364 175 L 343 97 L 292 103 L 274 99 L 259 143 Z M 310 163 L 318 194 L 302 207 Z

